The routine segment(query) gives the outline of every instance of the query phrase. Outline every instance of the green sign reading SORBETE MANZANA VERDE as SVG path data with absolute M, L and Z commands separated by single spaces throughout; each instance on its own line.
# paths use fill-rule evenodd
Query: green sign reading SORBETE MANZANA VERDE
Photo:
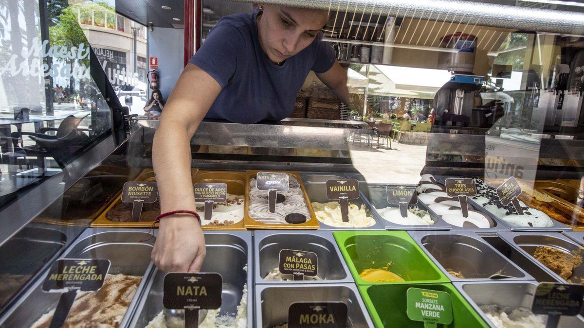
M 450 294 L 432 289 L 409 288 L 407 292 L 408 317 L 423 321 L 425 327 L 452 322 L 452 301 Z

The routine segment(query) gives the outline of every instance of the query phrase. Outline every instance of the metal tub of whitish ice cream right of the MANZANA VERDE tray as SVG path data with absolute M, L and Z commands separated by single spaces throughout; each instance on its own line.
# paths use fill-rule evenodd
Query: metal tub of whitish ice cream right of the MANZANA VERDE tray
M 467 302 L 485 320 L 489 326 L 495 324 L 489 320 L 482 305 L 498 305 L 508 312 L 516 308 L 531 309 L 537 283 L 533 281 L 498 281 L 498 282 L 454 282 L 454 287 L 464 296 Z M 584 318 L 578 316 L 562 316 L 558 327 L 582 327 Z

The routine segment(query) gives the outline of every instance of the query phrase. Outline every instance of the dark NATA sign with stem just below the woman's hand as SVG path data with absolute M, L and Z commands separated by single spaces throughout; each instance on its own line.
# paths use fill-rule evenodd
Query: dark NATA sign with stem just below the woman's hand
M 223 277 L 218 273 L 167 273 L 162 305 L 184 309 L 185 327 L 197 327 L 200 309 L 221 307 L 222 291 Z

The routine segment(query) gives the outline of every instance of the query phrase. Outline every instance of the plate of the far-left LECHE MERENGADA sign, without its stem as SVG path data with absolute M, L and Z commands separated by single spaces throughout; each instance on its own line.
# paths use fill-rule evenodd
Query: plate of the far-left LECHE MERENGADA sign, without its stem
M 78 289 L 96 291 L 102 288 L 109 271 L 110 260 L 104 259 L 60 259 L 48 271 L 43 291 L 62 292 Z

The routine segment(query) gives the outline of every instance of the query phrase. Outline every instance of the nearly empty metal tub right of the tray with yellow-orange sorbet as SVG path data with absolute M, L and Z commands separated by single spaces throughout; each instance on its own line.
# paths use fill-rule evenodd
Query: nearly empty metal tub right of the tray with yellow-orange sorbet
M 451 281 L 533 280 L 474 232 L 408 233 Z

